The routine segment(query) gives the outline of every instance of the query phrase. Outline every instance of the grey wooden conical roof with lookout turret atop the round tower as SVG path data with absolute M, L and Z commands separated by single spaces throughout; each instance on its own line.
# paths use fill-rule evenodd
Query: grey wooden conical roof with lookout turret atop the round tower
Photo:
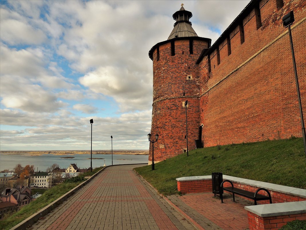
M 192 17 L 192 13 L 187 11 L 183 7 L 183 3 L 181 4 L 181 9 L 175 12 L 172 16 L 176 21 L 174 23 L 174 28 L 168 37 L 168 40 L 176 37 L 198 37 L 196 32 L 192 29 L 191 22 L 189 18 Z

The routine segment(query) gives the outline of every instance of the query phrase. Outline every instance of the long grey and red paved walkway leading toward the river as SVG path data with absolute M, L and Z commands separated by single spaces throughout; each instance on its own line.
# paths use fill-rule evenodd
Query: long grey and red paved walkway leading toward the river
M 194 229 L 132 171 L 135 167 L 107 167 L 32 230 Z

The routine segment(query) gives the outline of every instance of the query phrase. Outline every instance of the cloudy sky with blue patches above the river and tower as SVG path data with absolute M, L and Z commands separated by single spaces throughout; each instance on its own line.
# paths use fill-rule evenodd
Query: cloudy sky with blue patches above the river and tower
M 249 0 L 184 1 L 212 43 Z M 181 1 L 0 1 L 0 150 L 148 149 L 152 61 Z

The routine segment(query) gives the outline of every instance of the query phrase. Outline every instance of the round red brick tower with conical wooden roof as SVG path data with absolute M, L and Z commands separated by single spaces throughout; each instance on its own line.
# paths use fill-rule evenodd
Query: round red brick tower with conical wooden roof
M 153 60 L 152 139 L 159 134 L 154 146 L 154 162 L 186 151 L 186 108 L 188 149 L 201 144 L 200 79 L 196 64 L 201 52 L 211 45 L 211 39 L 199 37 L 189 19 L 192 13 L 181 9 L 173 14 L 174 29 L 166 41 L 155 44 L 149 51 Z M 202 70 L 203 71 L 203 70 Z M 149 164 L 152 163 L 150 143 Z

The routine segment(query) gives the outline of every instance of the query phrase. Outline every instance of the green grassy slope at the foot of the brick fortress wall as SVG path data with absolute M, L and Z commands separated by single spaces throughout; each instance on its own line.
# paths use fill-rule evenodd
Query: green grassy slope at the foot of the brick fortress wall
M 136 168 L 161 194 L 179 194 L 176 178 L 225 175 L 306 188 L 306 159 L 302 138 L 267 140 L 200 148 L 155 164 Z

